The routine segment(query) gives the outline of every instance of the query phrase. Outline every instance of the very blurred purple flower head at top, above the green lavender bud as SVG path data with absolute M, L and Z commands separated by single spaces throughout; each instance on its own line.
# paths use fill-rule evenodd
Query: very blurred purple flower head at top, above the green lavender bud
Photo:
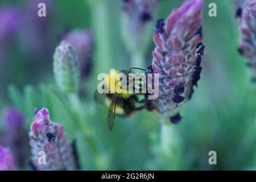
M 46 17 L 38 16 L 39 3 L 46 4 Z M 42 61 L 43 63 L 50 60 L 55 45 L 55 37 L 52 34 L 55 14 L 52 7 L 53 1 L 51 0 L 27 0 L 24 3 L 22 14 L 24 22 L 20 30 L 20 40 L 24 52 L 32 55 L 34 57 L 32 60 Z

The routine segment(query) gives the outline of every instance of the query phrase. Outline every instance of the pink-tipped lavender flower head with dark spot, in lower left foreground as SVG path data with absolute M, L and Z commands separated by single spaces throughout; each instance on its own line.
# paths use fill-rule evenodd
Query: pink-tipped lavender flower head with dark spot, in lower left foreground
M 40 109 L 30 128 L 32 164 L 37 170 L 75 170 L 76 160 L 67 142 L 63 125 L 53 123 L 46 108 Z M 38 163 L 39 152 L 46 152 L 46 164 Z

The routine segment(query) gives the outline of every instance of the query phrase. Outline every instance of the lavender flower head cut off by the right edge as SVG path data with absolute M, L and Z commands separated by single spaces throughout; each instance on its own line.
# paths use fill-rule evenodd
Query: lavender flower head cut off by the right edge
M 247 0 L 241 11 L 241 37 L 238 51 L 248 59 L 248 65 L 256 74 L 256 0 Z M 253 80 L 256 80 L 256 75 L 254 75 Z

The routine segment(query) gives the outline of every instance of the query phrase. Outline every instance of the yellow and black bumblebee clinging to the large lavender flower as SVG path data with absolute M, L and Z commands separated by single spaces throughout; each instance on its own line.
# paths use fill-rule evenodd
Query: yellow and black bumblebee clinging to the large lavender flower
M 150 71 L 152 71 L 152 69 L 145 70 L 141 68 L 130 68 L 129 71 L 122 70 L 119 72 L 117 71 L 110 72 L 108 77 L 105 79 L 105 86 L 106 86 L 105 89 L 108 90 L 108 93 L 100 94 L 98 93 L 97 90 L 94 93 L 94 100 L 96 101 L 96 103 L 105 104 L 109 107 L 109 111 L 108 111 L 109 130 L 113 129 L 115 115 L 121 118 L 128 118 L 131 115 L 133 115 L 135 111 L 143 110 L 146 107 L 146 104 L 143 104 L 144 102 L 147 101 L 146 97 L 140 101 L 138 96 L 142 95 L 141 93 L 134 93 L 134 92 L 129 93 L 127 90 L 127 88 L 129 87 L 128 85 L 129 73 L 132 73 L 131 71 L 133 69 L 142 70 L 146 74 L 147 72 L 149 73 Z M 126 88 L 122 88 L 122 86 L 120 88 L 116 88 L 118 82 L 122 81 L 120 73 L 123 73 L 127 78 L 127 80 L 125 81 L 127 83 Z M 111 84 L 112 82 L 114 82 L 113 85 Z M 130 84 L 134 84 L 134 82 Z M 133 89 L 135 88 L 133 87 Z M 137 103 L 140 103 L 143 105 L 137 107 Z

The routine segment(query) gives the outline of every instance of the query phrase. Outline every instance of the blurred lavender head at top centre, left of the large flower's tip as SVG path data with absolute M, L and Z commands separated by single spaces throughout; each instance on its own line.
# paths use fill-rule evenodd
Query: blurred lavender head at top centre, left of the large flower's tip
M 158 0 L 122 0 L 122 34 L 128 51 L 145 51 Z

